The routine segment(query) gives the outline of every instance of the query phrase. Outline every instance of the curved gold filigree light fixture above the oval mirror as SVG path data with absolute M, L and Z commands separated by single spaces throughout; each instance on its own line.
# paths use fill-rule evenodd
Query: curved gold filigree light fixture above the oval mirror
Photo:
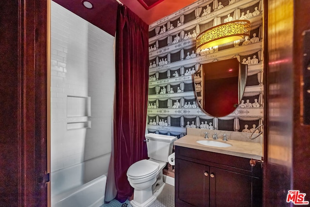
M 250 34 L 250 21 L 235 20 L 203 31 L 196 38 L 196 49 L 206 49 L 243 39 Z

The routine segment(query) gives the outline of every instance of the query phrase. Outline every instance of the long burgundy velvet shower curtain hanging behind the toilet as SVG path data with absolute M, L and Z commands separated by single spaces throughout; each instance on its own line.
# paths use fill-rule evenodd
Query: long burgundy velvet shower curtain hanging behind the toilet
M 114 162 L 116 199 L 124 202 L 133 189 L 127 169 L 147 158 L 143 142 L 148 95 L 148 25 L 127 7 L 119 5 L 116 26 L 114 102 Z

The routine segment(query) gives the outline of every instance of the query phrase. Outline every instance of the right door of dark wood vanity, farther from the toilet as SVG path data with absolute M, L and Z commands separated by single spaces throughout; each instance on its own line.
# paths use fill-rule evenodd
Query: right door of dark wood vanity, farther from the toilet
M 252 179 L 255 178 L 210 167 L 210 206 L 252 207 Z

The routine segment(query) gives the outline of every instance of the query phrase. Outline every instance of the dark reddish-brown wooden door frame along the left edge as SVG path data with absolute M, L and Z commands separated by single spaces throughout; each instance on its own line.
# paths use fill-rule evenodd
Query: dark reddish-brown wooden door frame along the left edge
M 47 206 L 47 0 L 0 1 L 0 206 Z

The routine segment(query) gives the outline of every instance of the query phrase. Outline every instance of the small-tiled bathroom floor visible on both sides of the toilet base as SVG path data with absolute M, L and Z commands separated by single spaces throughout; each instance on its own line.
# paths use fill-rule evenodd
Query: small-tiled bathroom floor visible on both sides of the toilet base
M 131 205 L 128 200 L 122 204 L 114 199 L 101 207 L 131 207 Z M 174 186 L 166 184 L 157 200 L 150 207 L 174 207 Z

